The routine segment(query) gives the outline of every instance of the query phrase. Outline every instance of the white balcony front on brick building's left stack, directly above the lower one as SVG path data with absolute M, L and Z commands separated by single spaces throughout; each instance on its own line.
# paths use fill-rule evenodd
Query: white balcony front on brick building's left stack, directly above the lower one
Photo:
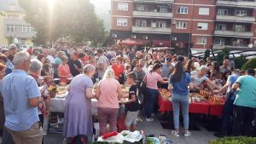
M 133 11 L 133 17 L 137 18 L 172 19 L 172 15 L 172 13 Z

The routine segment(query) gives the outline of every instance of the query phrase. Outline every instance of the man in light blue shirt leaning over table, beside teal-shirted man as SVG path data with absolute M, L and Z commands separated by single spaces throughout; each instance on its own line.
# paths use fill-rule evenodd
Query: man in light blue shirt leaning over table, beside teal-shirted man
M 233 74 L 228 77 L 226 84 L 219 90 L 214 90 L 215 94 L 223 93 L 227 90 L 226 93 L 226 102 L 224 104 L 224 112 L 222 116 L 222 125 L 220 131 L 214 135 L 217 137 L 224 137 L 227 135 L 227 130 L 230 122 L 230 116 L 233 114 L 233 103 L 236 98 L 236 93 L 233 92 L 232 85 L 236 83 L 236 79 L 239 78 L 239 70 L 234 69 Z

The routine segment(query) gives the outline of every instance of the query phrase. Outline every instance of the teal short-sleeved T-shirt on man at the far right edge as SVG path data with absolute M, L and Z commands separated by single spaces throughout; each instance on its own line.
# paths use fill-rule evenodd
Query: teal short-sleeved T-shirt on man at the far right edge
M 249 75 L 241 76 L 237 78 L 236 83 L 240 84 L 240 87 L 237 89 L 234 104 L 256 108 L 256 78 Z

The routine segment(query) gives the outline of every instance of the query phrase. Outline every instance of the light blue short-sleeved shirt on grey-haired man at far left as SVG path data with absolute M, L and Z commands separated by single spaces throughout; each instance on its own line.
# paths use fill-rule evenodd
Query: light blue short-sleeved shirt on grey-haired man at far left
M 5 126 L 10 130 L 28 130 L 39 121 L 38 108 L 30 107 L 28 99 L 39 97 L 35 79 L 23 70 L 14 69 L 0 84 L 3 95 Z

